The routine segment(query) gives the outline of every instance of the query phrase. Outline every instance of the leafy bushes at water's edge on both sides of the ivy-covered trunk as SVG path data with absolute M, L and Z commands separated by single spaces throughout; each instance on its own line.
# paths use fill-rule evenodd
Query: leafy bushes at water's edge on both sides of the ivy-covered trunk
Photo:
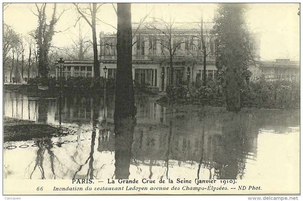
M 225 106 L 223 87 L 216 79 L 209 80 L 206 86 L 201 81 L 168 86 L 166 92 L 167 97 L 159 99 L 159 104 Z M 241 91 L 241 107 L 299 109 L 300 84 L 262 78 L 250 81 Z

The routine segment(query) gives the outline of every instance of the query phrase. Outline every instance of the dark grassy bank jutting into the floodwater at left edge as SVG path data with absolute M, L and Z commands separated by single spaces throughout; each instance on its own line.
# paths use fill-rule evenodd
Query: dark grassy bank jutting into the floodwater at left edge
M 62 128 L 35 121 L 3 117 L 3 141 L 33 140 L 42 137 L 62 136 Z

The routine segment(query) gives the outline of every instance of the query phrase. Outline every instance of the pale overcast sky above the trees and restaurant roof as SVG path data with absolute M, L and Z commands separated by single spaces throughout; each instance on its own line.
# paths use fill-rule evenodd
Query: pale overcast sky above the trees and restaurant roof
M 41 5 L 39 5 L 41 6 Z M 84 6 L 84 5 L 82 5 Z M 298 3 L 254 3 L 249 5 L 248 22 L 251 30 L 261 32 L 261 59 L 274 60 L 277 58 L 289 58 L 300 60 L 300 16 L 298 15 Z M 52 3 L 47 4 L 48 17 L 51 17 Z M 175 16 L 175 21 L 193 21 L 196 15 L 200 15 L 203 9 L 204 19 L 213 17 L 214 9 L 217 4 L 200 3 L 132 3 L 132 21 L 139 21 L 140 18 L 150 12 L 150 16 L 167 18 L 169 15 Z M 55 26 L 56 33 L 53 37 L 53 44 L 56 47 L 64 47 L 72 44 L 72 38 L 76 39 L 77 27 L 74 27 L 77 12 L 72 4 L 57 4 L 58 13 L 63 9 L 66 11 L 61 16 Z M 117 17 L 111 4 L 101 7 L 97 17 L 112 26 L 117 26 Z M 67 10 L 68 9 L 68 10 Z M 32 11 L 31 11 L 32 10 Z M 38 25 L 35 4 L 32 3 L 13 3 L 3 12 L 3 21 L 12 25 L 15 31 L 26 34 L 35 29 Z M 91 30 L 86 22 L 83 21 L 84 30 L 91 37 Z M 68 30 L 66 30 L 68 29 Z M 66 31 L 64 31 L 66 30 Z M 98 23 L 98 33 L 116 32 L 115 28 Z

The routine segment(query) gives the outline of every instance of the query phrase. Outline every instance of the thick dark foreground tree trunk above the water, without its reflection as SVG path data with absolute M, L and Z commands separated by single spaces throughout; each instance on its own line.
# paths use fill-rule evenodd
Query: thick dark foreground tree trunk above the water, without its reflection
M 117 77 L 114 120 L 136 115 L 132 78 L 131 4 L 117 4 Z

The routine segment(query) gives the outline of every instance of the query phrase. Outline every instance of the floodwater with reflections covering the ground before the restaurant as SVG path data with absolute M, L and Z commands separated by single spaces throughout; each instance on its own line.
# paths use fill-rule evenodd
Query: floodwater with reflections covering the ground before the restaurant
M 235 114 L 221 107 L 163 107 L 158 98 L 135 96 L 136 123 L 121 131 L 133 130 L 132 138 L 115 137 L 110 95 L 106 104 L 102 97 L 71 95 L 60 107 L 56 97 L 5 91 L 5 116 L 61 124 L 72 132 L 5 142 L 4 178 L 118 179 L 125 172 L 138 180 L 300 177 L 299 110 Z

